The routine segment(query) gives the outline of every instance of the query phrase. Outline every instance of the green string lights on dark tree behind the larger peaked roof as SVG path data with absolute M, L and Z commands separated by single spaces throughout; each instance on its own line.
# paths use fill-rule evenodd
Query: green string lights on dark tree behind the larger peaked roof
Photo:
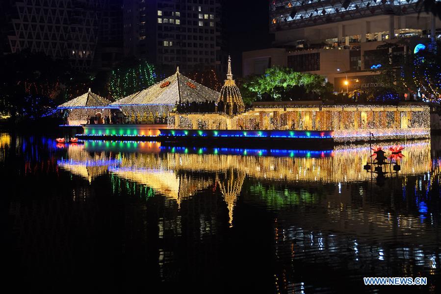
M 108 87 L 114 98 L 123 98 L 150 87 L 156 82 L 155 67 L 143 61 L 129 68 L 119 68 L 110 73 Z

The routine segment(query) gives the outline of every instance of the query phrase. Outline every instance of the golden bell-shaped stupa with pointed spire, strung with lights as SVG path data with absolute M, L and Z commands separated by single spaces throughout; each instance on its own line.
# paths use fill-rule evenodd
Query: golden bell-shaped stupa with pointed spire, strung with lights
M 231 73 L 231 58 L 228 56 L 228 71 L 227 79 L 221 89 L 221 96 L 219 101 L 223 101 L 224 109 L 220 111 L 227 111 L 227 114 L 232 115 L 237 112 L 242 112 L 245 108 L 240 95 L 239 88 L 233 80 L 233 74 Z M 219 107 L 219 104 L 218 104 Z

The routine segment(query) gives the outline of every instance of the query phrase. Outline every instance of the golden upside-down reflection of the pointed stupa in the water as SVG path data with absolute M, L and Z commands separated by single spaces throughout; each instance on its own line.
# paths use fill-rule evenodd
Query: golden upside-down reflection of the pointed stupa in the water
M 240 191 L 242 190 L 244 179 L 244 172 L 235 172 L 233 169 L 227 171 L 223 176 L 216 176 L 219 190 L 224 196 L 225 202 L 227 202 L 230 226 L 233 226 L 233 208 L 237 196 L 239 196 Z

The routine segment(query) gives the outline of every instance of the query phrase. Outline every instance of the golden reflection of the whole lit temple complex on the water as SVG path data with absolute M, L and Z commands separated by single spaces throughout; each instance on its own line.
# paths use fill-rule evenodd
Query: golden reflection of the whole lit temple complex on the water
M 86 148 L 87 149 L 87 148 Z M 94 148 L 95 150 L 96 148 Z M 69 159 L 60 167 L 91 181 L 107 171 L 143 186 L 148 186 L 181 205 L 182 200 L 210 186 L 218 185 L 233 222 L 233 208 L 245 176 L 279 182 L 339 183 L 362 181 L 370 175 L 363 170 L 370 155 L 369 147 L 337 147 L 332 156 L 273 157 L 188 153 L 121 153 L 118 159 L 95 155 L 82 146 L 70 146 Z M 421 174 L 430 170 L 430 143 L 408 144 L 403 150 L 401 175 Z M 208 178 L 198 172 L 211 174 Z

